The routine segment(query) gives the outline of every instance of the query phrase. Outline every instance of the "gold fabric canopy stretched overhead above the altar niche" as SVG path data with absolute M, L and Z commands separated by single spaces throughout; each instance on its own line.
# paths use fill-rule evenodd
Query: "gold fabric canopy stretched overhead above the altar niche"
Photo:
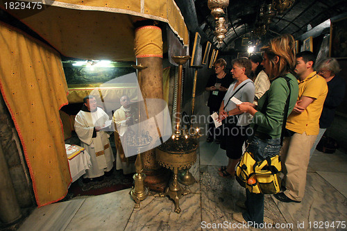
M 12 14 L 68 57 L 135 61 L 133 23 L 141 19 L 166 22 L 189 44 L 174 0 L 56 0 L 31 17 L 25 17 L 24 10 Z

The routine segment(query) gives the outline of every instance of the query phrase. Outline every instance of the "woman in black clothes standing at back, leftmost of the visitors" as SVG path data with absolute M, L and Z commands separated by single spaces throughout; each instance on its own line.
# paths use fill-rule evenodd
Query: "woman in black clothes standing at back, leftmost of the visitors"
M 232 78 L 230 74 L 226 73 L 226 60 L 219 58 L 214 62 L 214 74 L 210 76 L 208 83 L 206 84 L 206 91 L 210 92 L 208 98 L 210 114 L 219 112 L 219 106 L 221 105 L 221 101 L 223 100 L 231 82 Z M 219 128 L 214 127 L 212 119 L 209 119 L 211 121 L 209 121 L 208 139 L 206 139 L 206 142 L 210 143 L 213 139 L 216 139 L 217 144 L 219 144 L 221 132 Z

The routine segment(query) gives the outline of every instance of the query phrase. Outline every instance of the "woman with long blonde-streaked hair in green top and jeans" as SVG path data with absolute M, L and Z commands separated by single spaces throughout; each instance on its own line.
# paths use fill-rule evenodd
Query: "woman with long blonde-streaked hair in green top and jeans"
M 253 103 L 237 105 L 241 112 L 253 115 L 253 136 L 248 139 L 247 150 L 256 161 L 279 155 L 282 143 L 283 124 L 298 98 L 298 80 L 293 75 L 295 60 L 295 40 L 291 35 L 281 35 L 262 47 L 262 65 L 269 76 L 271 85 L 259 99 L 257 108 Z M 287 105 L 287 114 L 285 106 Z M 239 203 L 240 205 L 240 203 Z M 246 189 L 246 212 L 232 214 L 239 222 L 254 225 L 264 223 L 264 194 L 254 194 Z M 267 220 L 266 223 L 272 223 Z

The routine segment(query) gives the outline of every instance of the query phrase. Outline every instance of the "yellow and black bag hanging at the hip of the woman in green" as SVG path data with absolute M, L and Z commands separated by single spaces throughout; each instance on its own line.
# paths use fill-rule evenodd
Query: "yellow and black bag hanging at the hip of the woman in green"
M 267 157 L 261 162 L 252 153 L 244 153 L 236 167 L 236 180 L 253 194 L 277 194 L 280 192 L 280 156 Z

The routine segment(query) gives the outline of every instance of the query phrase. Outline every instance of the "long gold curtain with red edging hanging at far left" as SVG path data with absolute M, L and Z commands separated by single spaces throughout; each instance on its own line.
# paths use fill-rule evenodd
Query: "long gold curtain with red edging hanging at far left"
M 0 88 L 15 123 L 37 205 L 65 197 L 71 182 L 59 109 L 67 104 L 60 55 L 0 23 Z

